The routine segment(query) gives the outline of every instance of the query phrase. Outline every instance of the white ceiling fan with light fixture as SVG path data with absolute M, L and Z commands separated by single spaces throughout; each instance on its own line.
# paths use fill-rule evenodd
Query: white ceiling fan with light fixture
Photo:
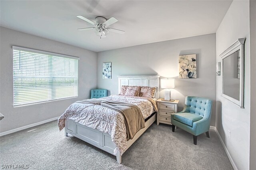
M 110 26 L 111 24 L 114 24 L 115 22 L 118 22 L 118 20 L 114 17 L 110 18 L 110 19 L 106 19 L 102 16 L 97 16 L 95 18 L 96 23 L 92 22 L 91 20 L 88 20 L 87 18 L 84 18 L 83 16 L 78 15 L 78 18 L 94 25 L 95 27 L 89 27 L 89 28 L 79 28 L 77 30 L 79 31 L 84 31 L 84 30 L 95 30 L 96 31 L 96 35 L 100 36 L 100 38 L 105 38 L 106 35 L 108 34 L 108 32 L 115 32 L 118 34 L 124 34 L 124 31 L 122 30 L 117 30 L 114 28 L 108 28 L 108 26 Z

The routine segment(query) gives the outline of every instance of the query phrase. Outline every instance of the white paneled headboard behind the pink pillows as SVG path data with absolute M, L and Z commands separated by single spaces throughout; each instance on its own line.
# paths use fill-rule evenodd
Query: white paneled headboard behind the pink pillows
M 122 85 L 136 85 L 145 87 L 157 87 L 155 98 L 159 98 L 159 75 L 134 75 L 134 76 L 117 76 L 118 77 L 118 94 Z

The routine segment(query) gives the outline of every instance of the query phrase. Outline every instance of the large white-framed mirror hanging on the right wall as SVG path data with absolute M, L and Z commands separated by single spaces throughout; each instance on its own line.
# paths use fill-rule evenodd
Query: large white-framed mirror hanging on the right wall
M 222 97 L 244 108 L 244 41 L 238 39 L 222 58 Z

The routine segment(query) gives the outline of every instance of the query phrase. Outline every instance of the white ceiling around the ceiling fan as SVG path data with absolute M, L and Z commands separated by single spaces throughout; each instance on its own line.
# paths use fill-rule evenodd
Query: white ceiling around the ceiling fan
M 232 0 L 94 0 L 50 1 L 1 0 L 1 26 L 92 51 L 174 40 L 215 33 Z M 78 31 L 92 25 L 96 16 L 118 22 L 106 38 L 94 30 Z

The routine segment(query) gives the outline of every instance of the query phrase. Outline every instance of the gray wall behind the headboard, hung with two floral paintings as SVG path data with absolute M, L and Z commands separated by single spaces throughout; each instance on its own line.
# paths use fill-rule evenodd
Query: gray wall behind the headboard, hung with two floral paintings
M 179 79 L 179 55 L 196 54 L 197 79 Z M 102 79 L 102 63 L 112 62 L 112 79 Z M 137 45 L 98 53 L 98 88 L 118 94 L 118 75 L 160 75 L 176 78 L 172 98 L 180 100 L 178 110 L 188 95 L 214 101 L 211 125 L 215 126 L 216 35 L 209 34 L 165 42 Z M 161 78 L 161 77 L 160 77 Z M 160 89 L 164 97 L 164 89 Z

